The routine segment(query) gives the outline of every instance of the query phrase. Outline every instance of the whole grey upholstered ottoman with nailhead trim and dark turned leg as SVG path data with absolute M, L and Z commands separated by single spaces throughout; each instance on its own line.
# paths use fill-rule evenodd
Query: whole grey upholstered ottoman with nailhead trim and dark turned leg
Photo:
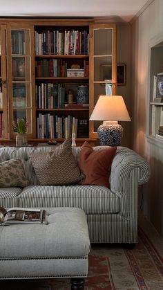
M 45 208 L 47 224 L 0 226 L 0 278 L 75 278 L 84 289 L 90 240 L 79 208 Z

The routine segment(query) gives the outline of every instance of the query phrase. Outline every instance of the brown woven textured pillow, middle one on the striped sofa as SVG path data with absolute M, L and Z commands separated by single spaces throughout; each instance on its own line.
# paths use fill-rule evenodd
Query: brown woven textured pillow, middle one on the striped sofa
M 73 156 L 69 139 L 50 152 L 30 154 L 30 161 L 41 185 L 67 185 L 84 177 Z

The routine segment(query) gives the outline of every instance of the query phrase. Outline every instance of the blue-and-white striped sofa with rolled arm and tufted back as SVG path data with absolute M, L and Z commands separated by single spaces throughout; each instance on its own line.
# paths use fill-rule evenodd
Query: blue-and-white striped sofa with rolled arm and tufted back
M 26 188 L 0 188 L 0 206 L 10 207 L 77 207 L 86 212 L 90 242 L 137 242 L 138 185 L 148 181 L 148 163 L 127 147 L 117 147 L 111 167 L 111 189 L 99 185 L 39 185 L 29 156 L 49 147 L 1 147 L 0 162 L 21 159 L 30 185 Z M 78 161 L 81 147 L 73 148 Z M 95 150 L 106 146 L 94 147 Z

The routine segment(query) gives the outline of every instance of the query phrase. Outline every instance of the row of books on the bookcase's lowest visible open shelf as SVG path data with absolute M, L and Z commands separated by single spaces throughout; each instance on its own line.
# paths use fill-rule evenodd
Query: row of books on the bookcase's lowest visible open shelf
M 88 120 L 73 116 L 57 116 L 55 114 L 38 114 L 37 138 L 88 138 Z

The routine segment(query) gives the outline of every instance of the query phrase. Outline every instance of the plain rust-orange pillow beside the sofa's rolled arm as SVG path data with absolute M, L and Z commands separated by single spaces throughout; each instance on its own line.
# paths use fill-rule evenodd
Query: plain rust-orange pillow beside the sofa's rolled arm
M 79 156 L 79 168 L 85 178 L 80 184 L 96 184 L 109 187 L 111 163 L 117 147 L 95 151 L 88 142 L 84 142 Z

